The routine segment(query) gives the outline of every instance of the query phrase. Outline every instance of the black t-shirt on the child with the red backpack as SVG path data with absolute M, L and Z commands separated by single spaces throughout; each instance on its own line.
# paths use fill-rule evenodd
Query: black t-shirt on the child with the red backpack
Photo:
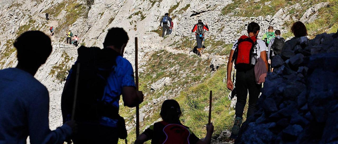
M 149 139 L 151 139 L 151 144 L 162 144 L 166 139 L 167 135 L 164 133 L 163 129 L 168 125 L 169 123 L 165 121 L 160 121 L 154 123 L 154 125 L 151 125 L 148 129 L 146 129 L 143 134 L 147 135 Z M 190 135 L 189 135 L 189 143 L 190 144 L 196 144 L 199 141 L 199 138 L 196 137 L 194 133 L 191 132 L 191 130 L 184 126 L 182 123 L 177 123 L 179 125 L 182 125 L 185 127 Z

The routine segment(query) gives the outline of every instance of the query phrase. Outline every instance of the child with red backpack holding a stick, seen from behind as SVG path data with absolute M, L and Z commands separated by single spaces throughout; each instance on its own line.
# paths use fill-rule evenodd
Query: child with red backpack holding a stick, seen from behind
M 207 124 L 207 136 L 200 140 L 196 135 L 180 121 L 182 111 L 175 100 L 165 100 L 161 107 L 162 121 L 156 122 L 146 129 L 135 141 L 135 144 L 143 144 L 151 139 L 152 144 L 210 144 L 214 132 L 212 123 Z

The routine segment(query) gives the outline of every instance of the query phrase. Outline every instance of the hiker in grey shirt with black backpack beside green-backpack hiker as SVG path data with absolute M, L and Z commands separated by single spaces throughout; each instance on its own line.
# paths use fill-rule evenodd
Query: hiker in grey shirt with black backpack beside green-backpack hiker
M 282 48 L 285 43 L 285 39 L 281 37 L 281 31 L 276 30 L 274 38 L 272 38 L 269 42 L 268 46 L 268 64 L 271 65 L 271 59 L 273 59 L 273 56 L 280 55 Z M 273 71 L 273 68 L 271 68 L 271 72 Z

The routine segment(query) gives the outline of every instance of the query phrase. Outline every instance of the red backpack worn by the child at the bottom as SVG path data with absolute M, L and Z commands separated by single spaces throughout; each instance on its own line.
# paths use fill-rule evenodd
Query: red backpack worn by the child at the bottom
M 180 124 L 161 121 L 165 125 L 164 134 L 167 136 L 163 144 L 189 144 L 190 131 Z

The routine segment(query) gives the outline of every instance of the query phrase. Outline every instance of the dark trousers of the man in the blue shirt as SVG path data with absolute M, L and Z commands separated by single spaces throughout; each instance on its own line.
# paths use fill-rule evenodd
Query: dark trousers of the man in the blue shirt
M 73 135 L 74 144 L 117 144 L 117 128 L 78 123 L 78 132 Z

